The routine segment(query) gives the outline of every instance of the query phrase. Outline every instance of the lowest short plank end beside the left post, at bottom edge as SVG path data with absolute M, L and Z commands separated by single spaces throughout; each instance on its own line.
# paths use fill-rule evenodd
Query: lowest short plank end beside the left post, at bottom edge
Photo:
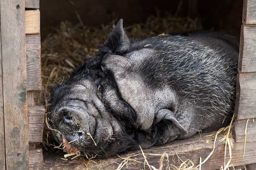
M 29 170 L 43 170 L 42 149 L 29 149 Z

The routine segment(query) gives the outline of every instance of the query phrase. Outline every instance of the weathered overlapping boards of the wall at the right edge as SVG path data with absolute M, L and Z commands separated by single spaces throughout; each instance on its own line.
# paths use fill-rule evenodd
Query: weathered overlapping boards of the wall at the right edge
M 243 149 L 256 152 L 256 1 L 243 1 L 243 25 L 237 74 L 234 136 Z M 254 120 L 255 119 L 255 120 Z M 244 152 L 244 156 L 250 153 Z M 255 157 L 255 155 L 254 155 Z

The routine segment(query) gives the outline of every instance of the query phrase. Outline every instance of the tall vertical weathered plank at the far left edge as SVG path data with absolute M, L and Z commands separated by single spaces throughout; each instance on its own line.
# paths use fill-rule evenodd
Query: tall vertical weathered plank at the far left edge
M 29 168 L 25 1 L 0 1 L 6 169 Z

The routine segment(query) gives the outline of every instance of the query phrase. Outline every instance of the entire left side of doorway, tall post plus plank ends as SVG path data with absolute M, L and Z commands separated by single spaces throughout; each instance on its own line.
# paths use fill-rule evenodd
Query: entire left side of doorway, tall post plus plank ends
M 39 0 L 0 2 L 0 169 L 43 169 Z M 26 9 L 26 10 L 25 10 Z

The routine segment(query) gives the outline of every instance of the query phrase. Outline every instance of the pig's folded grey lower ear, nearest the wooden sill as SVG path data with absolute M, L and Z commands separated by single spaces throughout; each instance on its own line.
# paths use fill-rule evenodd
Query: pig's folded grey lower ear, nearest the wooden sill
M 172 122 L 172 125 L 174 125 L 177 129 L 173 129 L 173 135 L 185 135 L 188 133 L 188 131 L 178 122 L 178 120 L 175 118 L 174 113 L 168 109 L 161 109 L 157 112 L 156 115 L 156 123 L 160 122 L 161 120 L 170 120 Z

